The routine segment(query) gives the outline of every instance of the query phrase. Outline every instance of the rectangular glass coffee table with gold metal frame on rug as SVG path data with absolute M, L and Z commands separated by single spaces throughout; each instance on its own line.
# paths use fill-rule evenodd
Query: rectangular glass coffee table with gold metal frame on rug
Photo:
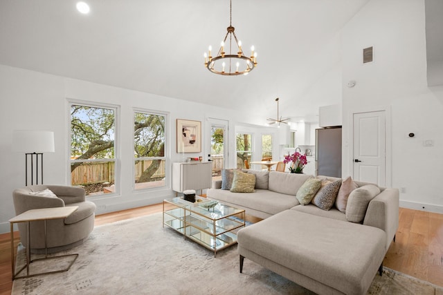
M 179 231 L 200 245 L 217 251 L 237 243 L 237 231 L 245 226 L 243 209 L 218 201 L 196 197 L 188 202 L 181 197 L 163 200 L 163 227 Z

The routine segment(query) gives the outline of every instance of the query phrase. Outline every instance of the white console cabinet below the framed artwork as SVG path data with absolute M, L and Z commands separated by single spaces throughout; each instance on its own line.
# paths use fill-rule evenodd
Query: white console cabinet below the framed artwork
M 213 180 L 212 162 L 172 163 L 172 190 L 208 189 Z

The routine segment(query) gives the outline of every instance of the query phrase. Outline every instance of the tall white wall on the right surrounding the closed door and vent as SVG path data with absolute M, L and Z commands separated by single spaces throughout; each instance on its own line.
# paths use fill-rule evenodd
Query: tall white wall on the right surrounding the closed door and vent
M 386 110 L 388 177 L 406 191 L 401 206 L 443 212 L 443 87 L 426 84 L 424 26 L 423 0 L 372 0 L 343 29 L 343 175 L 352 175 L 352 113 Z M 363 65 L 369 46 L 374 61 Z

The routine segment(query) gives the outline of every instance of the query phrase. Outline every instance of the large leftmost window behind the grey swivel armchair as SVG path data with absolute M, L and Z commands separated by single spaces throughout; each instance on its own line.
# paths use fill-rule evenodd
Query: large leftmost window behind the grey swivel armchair
M 71 185 L 87 196 L 115 193 L 116 107 L 70 104 Z

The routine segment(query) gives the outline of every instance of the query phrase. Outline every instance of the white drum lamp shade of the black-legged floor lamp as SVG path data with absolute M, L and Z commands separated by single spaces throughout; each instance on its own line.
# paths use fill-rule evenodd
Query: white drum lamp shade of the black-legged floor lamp
M 15 130 L 12 134 L 12 150 L 24 153 L 55 151 L 53 131 Z

